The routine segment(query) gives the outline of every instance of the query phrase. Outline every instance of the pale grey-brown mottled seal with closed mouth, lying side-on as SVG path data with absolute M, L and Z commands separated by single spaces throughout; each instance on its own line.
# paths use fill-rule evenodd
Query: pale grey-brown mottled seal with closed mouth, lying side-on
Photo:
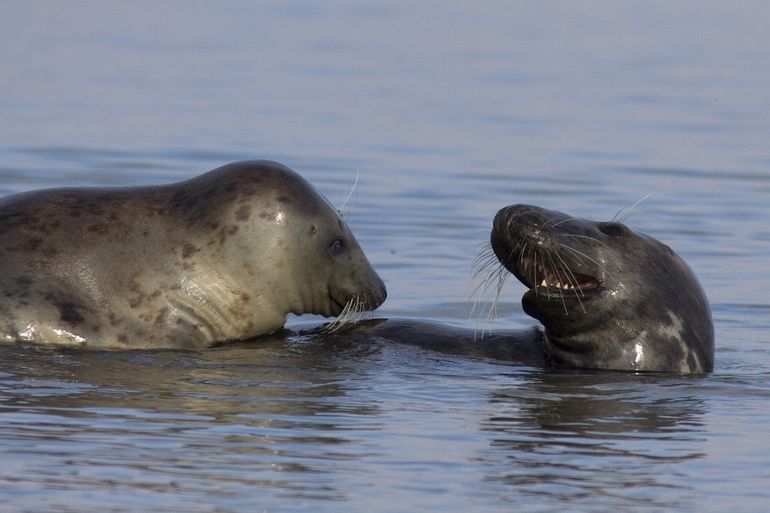
M 96 347 L 205 347 L 333 316 L 385 286 L 298 174 L 237 162 L 148 187 L 0 199 L 0 337 Z

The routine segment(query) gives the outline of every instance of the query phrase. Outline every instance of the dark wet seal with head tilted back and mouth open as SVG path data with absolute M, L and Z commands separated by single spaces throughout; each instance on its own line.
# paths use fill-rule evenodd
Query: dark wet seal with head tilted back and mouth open
M 492 255 L 527 288 L 524 311 L 542 324 L 475 333 L 431 321 L 379 319 L 357 339 L 533 365 L 705 373 L 714 367 L 711 310 L 695 274 L 662 242 L 620 222 L 577 219 L 531 205 L 494 218 Z M 505 272 L 503 271 L 503 272 Z

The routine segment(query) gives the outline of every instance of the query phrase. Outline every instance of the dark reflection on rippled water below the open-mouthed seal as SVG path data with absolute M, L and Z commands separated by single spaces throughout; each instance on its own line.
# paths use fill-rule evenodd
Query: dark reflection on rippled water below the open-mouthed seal
M 704 401 L 679 381 L 622 373 L 538 373 L 491 397 L 486 479 L 515 494 L 605 511 L 676 508 L 671 466 L 702 458 Z M 678 489 L 678 491 L 677 491 Z M 665 493 L 661 493 L 665 490 Z

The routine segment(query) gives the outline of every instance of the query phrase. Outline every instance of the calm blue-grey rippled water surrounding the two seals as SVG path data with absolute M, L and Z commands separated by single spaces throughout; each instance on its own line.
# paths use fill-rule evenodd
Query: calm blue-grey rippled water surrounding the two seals
M 500 207 L 629 224 L 712 302 L 706 377 L 372 344 L 0 348 L 3 512 L 764 511 L 770 62 L 742 2 L 0 7 L 0 192 L 273 158 L 340 203 L 384 316 L 469 318 Z M 320 322 L 292 319 L 292 323 Z

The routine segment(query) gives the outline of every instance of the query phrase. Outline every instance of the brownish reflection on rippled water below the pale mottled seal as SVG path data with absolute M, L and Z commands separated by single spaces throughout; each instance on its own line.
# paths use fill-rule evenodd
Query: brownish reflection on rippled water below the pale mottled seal
M 338 500 L 344 491 L 323 475 L 361 458 L 356 432 L 380 427 L 376 402 L 348 397 L 360 355 L 302 341 L 201 353 L 0 350 L 0 490 L 264 487 Z M 35 441 L 46 449 L 30 450 Z

